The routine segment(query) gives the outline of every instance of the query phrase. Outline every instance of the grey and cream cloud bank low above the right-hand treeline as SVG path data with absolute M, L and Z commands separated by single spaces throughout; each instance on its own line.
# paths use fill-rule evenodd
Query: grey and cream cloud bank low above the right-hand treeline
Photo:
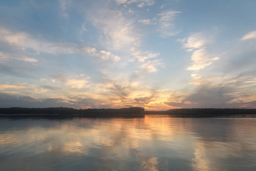
M 180 101 L 172 101 L 168 105 L 185 108 L 250 108 L 256 100 L 255 76 L 243 72 L 237 76 L 193 74 L 195 89 Z M 248 93 L 250 92 L 250 93 Z M 186 103 L 189 101 L 190 103 Z

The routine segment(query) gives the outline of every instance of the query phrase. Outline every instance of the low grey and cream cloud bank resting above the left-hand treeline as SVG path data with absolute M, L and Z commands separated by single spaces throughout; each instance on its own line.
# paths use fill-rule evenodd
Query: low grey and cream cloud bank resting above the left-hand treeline
M 83 77 L 77 75 L 69 78 L 65 75 L 56 75 L 56 82 L 47 83 L 46 86 L 27 83 L 1 84 L 0 90 L 5 93 L 0 95 L 0 101 L 9 99 L 8 103 L 1 105 L 2 107 L 111 107 L 111 104 L 104 104 L 108 99 L 107 95 L 111 95 L 110 89 L 104 87 L 98 89 L 96 84 L 89 87 L 92 83 L 88 84 L 89 78 L 82 79 Z

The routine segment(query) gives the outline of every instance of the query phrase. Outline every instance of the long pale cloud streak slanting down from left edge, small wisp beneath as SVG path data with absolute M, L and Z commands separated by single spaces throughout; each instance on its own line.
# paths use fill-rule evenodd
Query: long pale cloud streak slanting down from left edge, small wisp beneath
M 17 46 L 22 49 L 29 48 L 35 52 L 43 52 L 53 55 L 61 54 L 80 54 L 80 55 L 90 55 L 100 59 L 100 61 L 113 60 L 117 62 L 120 57 L 111 52 L 104 50 L 98 51 L 95 47 L 83 46 L 76 43 L 49 43 L 44 40 L 36 40 L 32 38 L 31 35 L 26 32 L 11 32 L 9 30 L 0 28 L 0 40 L 9 43 L 12 46 Z M 0 52 L 0 58 L 7 59 L 7 54 Z M 10 56 L 10 55 L 8 55 Z M 17 54 L 12 54 L 12 59 L 23 60 L 26 62 L 37 62 L 38 60 L 34 58 L 29 58 L 27 56 L 21 56 Z M 10 59 L 10 58 L 9 58 Z

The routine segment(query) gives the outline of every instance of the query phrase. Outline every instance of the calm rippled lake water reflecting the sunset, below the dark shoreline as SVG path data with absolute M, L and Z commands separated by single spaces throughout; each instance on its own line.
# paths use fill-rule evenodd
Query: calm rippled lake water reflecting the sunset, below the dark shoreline
M 256 170 L 256 118 L 0 118 L 0 170 Z

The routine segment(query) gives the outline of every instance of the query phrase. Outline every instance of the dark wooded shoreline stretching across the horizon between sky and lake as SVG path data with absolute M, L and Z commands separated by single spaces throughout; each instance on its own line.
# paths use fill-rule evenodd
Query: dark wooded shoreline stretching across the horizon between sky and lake
M 120 109 L 74 109 L 74 108 L 0 108 L 1 116 L 77 116 L 77 117 L 256 117 L 256 109 L 192 108 L 169 109 L 167 111 L 145 111 L 144 108 Z

